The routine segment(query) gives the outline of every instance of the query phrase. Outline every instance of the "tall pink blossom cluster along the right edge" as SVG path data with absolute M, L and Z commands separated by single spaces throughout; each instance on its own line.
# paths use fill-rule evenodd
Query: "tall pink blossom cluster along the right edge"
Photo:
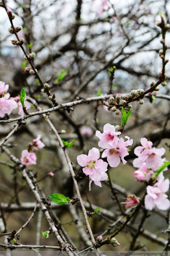
M 164 148 L 152 148 L 152 142 L 146 138 L 141 138 L 142 146 L 136 147 L 134 153 L 138 158 L 133 161 L 133 166 L 139 169 L 135 171 L 135 178 L 140 182 L 148 183 L 152 174 L 164 164 L 165 158 L 162 156 L 165 153 Z M 166 171 L 167 167 L 163 170 Z M 156 183 L 153 186 L 147 186 L 147 195 L 145 197 L 145 208 L 152 210 L 155 206 L 160 210 L 167 210 L 170 207 L 170 201 L 165 194 L 169 190 L 169 179 L 165 179 L 163 172 L 161 172 Z

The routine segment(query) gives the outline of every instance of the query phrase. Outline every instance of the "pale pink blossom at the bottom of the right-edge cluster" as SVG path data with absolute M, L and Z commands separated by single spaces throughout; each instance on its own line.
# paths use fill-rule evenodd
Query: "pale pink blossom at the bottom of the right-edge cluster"
M 169 179 L 164 180 L 164 176 L 160 175 L 158 182 L 154 186 L 147 186 L 147 195 L 145 197 L 145 208 L 147 210 L 152 210 L 155 206 L 159 210 L 167 210 L 170 207 L 170 201 L 165 194 L 169 190 L 169 184 Z

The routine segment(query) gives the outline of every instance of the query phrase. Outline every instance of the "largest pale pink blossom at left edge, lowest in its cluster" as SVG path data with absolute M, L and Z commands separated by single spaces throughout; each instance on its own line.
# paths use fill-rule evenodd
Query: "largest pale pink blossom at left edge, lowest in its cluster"
M 11 114 L 13 109 L 17 108 L 17 103 L 13 99 L 9 99 L 10 94 L 6 93 L 4 97 L 0 98 L 0 117 L 3 118 L 5 113 Z

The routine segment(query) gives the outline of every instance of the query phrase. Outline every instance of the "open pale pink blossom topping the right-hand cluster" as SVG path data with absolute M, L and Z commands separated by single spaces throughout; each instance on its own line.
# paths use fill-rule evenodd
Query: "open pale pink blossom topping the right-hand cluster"
M 134 153 L 138 158 L 133 161 L 134 167 L 140 167 L 143 162 L 146 162 L 147 168 L 157 167 L 160 163 L 160 166 L 163 164 L 163 159 L 161 158 L 165 149 L 152 148 L 152 142 L 148 141 L 147 138 L 141 138 L 140 143 L 142 146 L 136 147 Z

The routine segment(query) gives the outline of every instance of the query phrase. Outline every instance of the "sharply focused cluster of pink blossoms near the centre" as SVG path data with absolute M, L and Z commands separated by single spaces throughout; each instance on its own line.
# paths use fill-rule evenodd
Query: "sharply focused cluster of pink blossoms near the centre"
M 96 131 L 96 136 L 100 139 L 98 145 L 102 147 L 104 152 L 102 153 L 102 158 L 107 157 L 107 161 L 111 167 L 116 167 L 120 163 L 120 159 L 122 159 L 123 164 L 126 163 L 124 157 L 129 153 L 127 152 L 127 146 L 132 145 L 133 140 L 125 136 L 128 140 L 124 141 L 123 138 L 118 138 L 118 135 L 121 132 L 115 131 L 115 126 L 109 123 L 104 125 L 104 132 Z M 100 152 L 97 148 L 92 148 L 88 152 L 88 156 L 85 154 L 81 154 L 77 157 L 78 163 L 84 167 L 83 172 L 86 175 L 89 175 L 89 190 L 92 181 L 98 186 L 101 187 L 102 180 L 107 179 L 107 163 L 100 158 Z

